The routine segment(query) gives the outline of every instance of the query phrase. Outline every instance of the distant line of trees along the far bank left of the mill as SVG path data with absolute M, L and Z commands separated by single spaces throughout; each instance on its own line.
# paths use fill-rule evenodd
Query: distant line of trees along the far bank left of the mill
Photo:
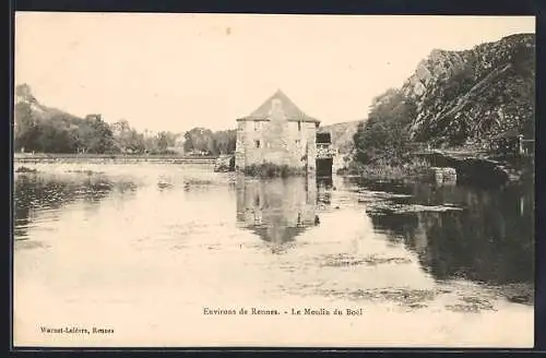
M 235 152 L 236 131 L 193 128 L 186 133 L 139 132 L 127 120 L 107 123 L 100 115 L 80 118 L 39 104 L 26 84 L 15 88 L 14 151 L 92 154 L 219 155 Z

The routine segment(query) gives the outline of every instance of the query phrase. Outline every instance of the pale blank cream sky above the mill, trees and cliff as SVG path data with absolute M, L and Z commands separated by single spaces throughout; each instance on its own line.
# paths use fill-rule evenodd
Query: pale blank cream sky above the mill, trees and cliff
M 15 14 L 15 84 L 140 131 L 235 128 L 282 90 L 322 124 L 367 117 L 432 49 L 517 33 L 533 16 Z

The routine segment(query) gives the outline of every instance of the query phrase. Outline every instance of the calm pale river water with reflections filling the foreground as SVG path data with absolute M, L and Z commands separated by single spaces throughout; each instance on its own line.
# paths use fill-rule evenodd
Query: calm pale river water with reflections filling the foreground
M 15 345 L 533 345 L 533 188 L 31 168 Z

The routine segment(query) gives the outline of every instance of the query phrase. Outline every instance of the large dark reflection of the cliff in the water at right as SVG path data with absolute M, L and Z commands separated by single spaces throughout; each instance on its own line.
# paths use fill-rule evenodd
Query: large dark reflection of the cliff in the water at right
M 532 283 L 534 277 L 533 188 L 475 190 L 408 187 L 415 203 L 452 203 L 463 211 L 373 215 L 415 250 L 437 279 L 465 277 L 492 284 Z

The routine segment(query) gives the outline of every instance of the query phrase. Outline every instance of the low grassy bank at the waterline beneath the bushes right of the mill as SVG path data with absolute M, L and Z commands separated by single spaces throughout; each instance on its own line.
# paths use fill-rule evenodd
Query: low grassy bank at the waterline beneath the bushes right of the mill
M 413 159 L 401 165 L 383 162 L 365 165 L 353 162 L 347 168 L 337 170 L 337 174 L 380 180 L 424 179 L 429 175 L 429 169 L 430 165 L 426 160 L 420 159 Z

